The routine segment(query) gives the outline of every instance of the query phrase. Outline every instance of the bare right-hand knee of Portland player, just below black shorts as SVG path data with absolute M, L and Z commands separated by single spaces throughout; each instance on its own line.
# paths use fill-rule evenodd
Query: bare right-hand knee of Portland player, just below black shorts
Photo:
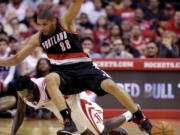
M 111 79 L 106 79 L 102 81 L 101 88 L 111 94 L 115 94 L 118 90 L 117 84 Z

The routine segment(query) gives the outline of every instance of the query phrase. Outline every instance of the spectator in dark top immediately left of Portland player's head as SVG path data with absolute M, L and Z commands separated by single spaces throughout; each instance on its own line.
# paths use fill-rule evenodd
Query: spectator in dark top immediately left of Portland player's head
M 32 8 L 27 8 L 26 17 L 21 23 L 25 24 L 28 27 L 28 33 L 30 35 L 36 33 L 38 31 L 38 26 L 36 23 L 36 15 Z

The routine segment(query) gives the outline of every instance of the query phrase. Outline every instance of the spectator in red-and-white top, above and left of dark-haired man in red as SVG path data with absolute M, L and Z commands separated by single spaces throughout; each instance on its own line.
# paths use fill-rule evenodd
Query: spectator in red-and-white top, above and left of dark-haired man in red
M 136 48 L 141 54 L 144 53 L 146 47 L 146 39 L 141 34 L 141 29 L 138 25 L 134 25 L 131 32 L 131 46 Z

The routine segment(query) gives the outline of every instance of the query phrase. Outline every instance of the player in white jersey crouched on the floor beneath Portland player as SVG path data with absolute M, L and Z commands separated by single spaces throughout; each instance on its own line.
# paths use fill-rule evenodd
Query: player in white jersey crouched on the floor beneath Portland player
M 13 121 L 11 135 L 15 135 L 22 124 L 26 105 L 35 109 L 46 108 L 52 111 L 60 122 L 63 122 L 57 107 L 46 93 L 44 77 L 31 79 L 28 76 L 20 77 L 16 80 L 15 87 L 18 92 L 18 108 Z M 133 117 L 128 111 L 103 123 L 103 109 L 90 101 L 85 92 L 66 97 L 66 102 L 71 109 L 71 116 L 77 126 L 78 133 L 81 135 L 107 135 Z M 113 131 L 114 133 L 118 133 L 118 135 L 128 134 L 122 128 L 119 128 L 118 131 Z

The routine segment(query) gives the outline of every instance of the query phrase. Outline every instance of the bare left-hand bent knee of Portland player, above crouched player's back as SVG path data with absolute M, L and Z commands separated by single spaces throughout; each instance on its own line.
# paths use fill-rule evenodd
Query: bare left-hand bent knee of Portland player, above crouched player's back
M 50 73 L 45 77 L 46 84 L 54 84 L 57 83 L 60 85 L 60 76 L 57 73 Z

